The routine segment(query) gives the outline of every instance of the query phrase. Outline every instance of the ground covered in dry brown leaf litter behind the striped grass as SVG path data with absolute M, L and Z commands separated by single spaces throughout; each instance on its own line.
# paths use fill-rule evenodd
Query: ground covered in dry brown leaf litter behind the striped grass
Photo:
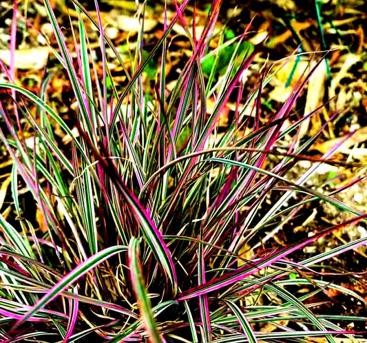
M 200 2 L 200 1 L 199 1 Z M 294 52 L 302 52 L 300 61 L 293 59 L 287 63 L 283 70 L 277 73 L 276 77 L 266 86 L 263 93 L 262 110 L 271 112 L 285 100 L 287 94 L 291 92 L 293 85 L 297 83 L 302 74 L 302 70 L 308 65 L 310 58 L 317 61 L 323 52 L 329 51 L 327 59 L 319 65 L 315 72 L 315 77 L 311 79 L 308 89 L 297 103 L 295 112 L 311 112 L 319 105 L 329 101 L 323 110 L 303 127 L 304 136 L 311 135 L 321 127 L 332 113 L 339 112 L 337 120 L 327 126 L 327 129 L 319 137 L 313 148 L 314 156 L 322 156 L 332 145 L 338 141 L 345 141 L 335 153 L 335 158 L 346 167 L 325 166 L 317 174 L 317 178 L 310 180 L 312 185 L 317 185 L 323 191 L 333 191 L 333 187 L 349 183 L 351 180 L 366 175 L 367 160 L 367 8 L 365 1 L 324 1 L 317 13 L 314 1 L 229 1 L 222 8 L 222 14 L 218 21 L 218 28 L 227 25 L 233 34 L 242 34 L 249 28 L 247 39 L 260 48 L 261 54 L 252 67 L 252 73 L 258 74 L 264 65 L 272 65 L 275 61 L 290 56 Z M 91 1 L 92 3 L 92 1 Z M 154 4 L 153 4 L 154 3 Z M 198 12 L 197 31 L 205 23 L 205 11 L 208 1 L 200 3 Z M 123 4 L 123 6 L 121 6 Z M 67 19 L 67 8 L 72 8 L 66 1 L 63 7 L 61 1 L 55 1 L 55 6 L 59 7 L 61 20 Z M 93 14 L 91 4 L 88 8 Z M 12 16 L 12 6 L 14 1 L 1 1 L 0 3 L 0 59 L 8 63 L 9 54 L 7 50 L 9 42 L 9 28 Z M 134 48 L 134 40 L 138 30 L 138 21 L 134 19 L 134 1 L 106 1 L 101 3 L 103 20 L 107 23 L 106 33 L 112 42 L 122 51 L 122 54 L 129 54 L 129 49 Z M 146 9 L 145 21 L 145 47 L 147 52 L 154 46 L 160 37 L 163 28 L 162 2 L 151 1 Z M 129 10 L 129 8 L 131 10 Z M 171 13 L 174 6 L 169 5 Z M 43 77 L 43 68 L 46 63 L 54 68 L 54 77 L 50 81 L 50 92 L 52 101 L 58 106 L 59 111 L 64 114 L 65 120 L 73 109 L 73 98 L 70 84 L 65 79 L 65 74 L 61 72 L 53 56 L 50 56 L 46 41 L 49 39 L 50 45 L 55 45 L 52 32 L 43 12 L 42 1 L 19 1 L 19 10 L 27 19 L 28 27 L 19 28 L 19 56 L 17 57 L 17 79 L 22 85 L 27 85 L 30 90 L 38 89 Z M 69 11 L 72 21 L 76 21 L 76 13 Z M 249 26 L 250 21 L 251 26 Z M 321 24 L 321 25 L 320 25 Z M 176 50 L 171 55 L 169 63 L 169 73 L 167 81 L 174 80 L 180 68 L 185 63 L 189 52 L 189 41 L 185 39 L 179 28 L 176 28 L 176 38 L 172 39 L 172 50 Z M 39 33 L 43 32 L 45 37 Z M 98 37 L 96 32 L 90 28 L 90 48 L 93 50 L 94 43 Z M 67 35 L 72 45 L 72 34 Z M 126 44 L 127 39 L 129 45 Z M 217 42 L 218 43 L 218 42 Z M 216 48 L 213 42 L 213 48 Z M 323 52 L 320 52 L 323 51 Z M 313 52 L 317 52 L 313 54 Z M 123 72 L 119 69 L 116 61 L 111 60 L 112 76 L 118 80 L 121 89 L 126 83 Z M 116 67 L 114 67 L 116 63 Z M 296 67 L 295 67 L 295 63 Z M 327 64 L 326 64 L 327 63 Z M 54 65 L 54 66 L 52 66 Z M 157 65 L 151 65 L 151 72 L 154 75 Z M 293 74 L 294 71 L 294 74 Z M 293 74 L 293 77 L 289 77 Z M 0 79 L 1 79 L 0 75 Z M 249 88 L 251 81 L 257 78 L 249 74 Z M 289 87 L 286 87 L 289 83 Z M 147 87 L 151 83 L 147 81 Z M 0 94 L 1 96 L 1 94 Z M 249 114 L 251 116 L 251 114 Z M 225 130 L 228 121 L 231 121 L 231 109 L 227 117 L 222 118 L 222 129 Z M 70 119 L 70 126 L 72 126 Z M 348 137 L 351 132 L 353 136 Z M 30 136 L 32 135 L 29 132 Z M 59 136 L 60 144 L 67 146 L 67 137 Z M 8 160 L 4 156 L 1 167 L 3 170 L 8 166 Z M 293 171 L 291 177 L 294 180 L 300 177 L 310 165 L 300 163 L 298 171 Z M 367 182 L 366 179 L 356 183 L 353 187 L 338 194 L 338 198 L 354 207 L 361 213 L 367 212 Z M 6 202 L 1 204 L 1 211 L 5 213 L 8 207 Z M 32 211 L 30 211 L 32 212 Z M 11 217 L 9 213 L 8 216 Z M 302 214 L 297 218 L 297 222 L 289 223 L 284 234 L 270 237 L 266 242 L 268 247 L 273 243 L 286 245 L 293 239 L 298 239 L 312 232 L 313 228 L 319 225 L 328 225 L 345 220 L 344 214 L 331 209 L 320 202 L 317 211 Z M 294 229 L 296 227 L 296 229 Z M 289 231 L 287 231 L 289 230 Z M 342 231 L 335 233 L 332 240 L 319 242 L 309 249 L 322 249 L 333 247 L 337 242 L 348 242 L 348 240 L 366 237 L 366 223 L 355 231 Z M 275 244 L 275 243 L 274 243 Z M 303 251 L 305 255 L 312 251 Z M 367 301 L 367 281 L 366 281 L 366 249 L 359 249 L 335 258 L 333 267 L 335 271 L 353 271 L 353 274 L 346 274 L 339 278 L 340 284 L 346 284 L 364 297 Z M 333 278 L 331 276 L 330 278 Z M 334 302 L 328 301 L 332 298 Z M 319 300 L 327 301 L 326 309 L 335 311 L 343 315 L 358 314 L 367 315 L 366 309 L 361 303 L 353 303 L 353 300 L 346 295 L 331 295 L 328 298 Z M 323 310 L 325 311 L 325 307 Z M 342 323 L 341 323 L 342 324 Z M 363 324 L 359 327 L 348 329 L 364 329 Z

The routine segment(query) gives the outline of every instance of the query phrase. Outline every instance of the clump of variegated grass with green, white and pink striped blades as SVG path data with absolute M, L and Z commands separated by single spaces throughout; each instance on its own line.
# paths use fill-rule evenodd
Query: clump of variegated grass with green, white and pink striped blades
M 336 335 L 358 334 L 340 328 L 339 315 L 320 313 L 325 298 L 317 295 L 335 291 L 365 303 L 323 271 L 331 258 L 366 244 L 366 238 L 299 253 L 364 220 L 333 195 L 306 186 L 319 165 L 333 163 L 337 149 L 307 157 L 328 123 L 316 136 L 300 137 L 300 126 L 314 113 L 293 112 L 317 64 L 265 116 L 262 90 L 272 74 L 264 66 L 256 87 L 247 87 L 246 75 L 259 65 L 247 32 L 229 38 L 214 30 L 221 1 L 213 0 L 196 36 L 187 2 L 176 3 L 171 19 L 165 15 L 162 37 L 149 54 L 143 53 L 142 29 L 136 48 L 121 57 L 104 34 L 97 1 L 96 17 L 75 1 L 78 25 L 65 37 L 45 0 L 59 69 L 46 70 L 39 90 L 31 92 L 14 82 L 14 64 L 2 65 L 7 81 L 0 87 L 8 93 L 0 103 L 0 137 L 12 160 L 8 192 L 17 220 L 0 214 L 1 342 L 325 337 L 335 343 Z M 98 32 L 98 59 L 86 23 Z M 174 25 L 185 29 L 191 52 L 168 85 Z M 12 53 L 16 30 L 13 25 Z M 209 47 L 215 39 L 218 48 Z M 125 72 L 123 86 L 109 70 L 111 52 Z M 158 67 L 149 81 L 152 61 Z M 70 81 L 67 120 L 50 101 L 52 73 L 65 73 Z M 233 120 L 221 129 L 229 103 Z M 312 163 L 306 174 L 288 178 L 304 159 Z M 286 223 L 319 201 L 353 216 L 297 241 L 269 245 Z M 36 220 L 24 216 L 32 205 Z

